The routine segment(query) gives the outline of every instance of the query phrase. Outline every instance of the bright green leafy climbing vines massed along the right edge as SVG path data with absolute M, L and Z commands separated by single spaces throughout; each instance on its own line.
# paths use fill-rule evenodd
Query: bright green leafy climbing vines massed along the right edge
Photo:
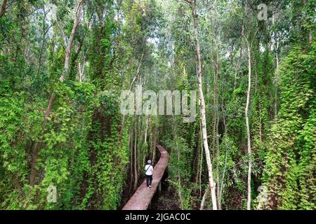
M 314 57 L 315 42 L 311 49 L 296 46 L 280 69 L 281 109 L 263 176 L 272 209 L 315 209 Z

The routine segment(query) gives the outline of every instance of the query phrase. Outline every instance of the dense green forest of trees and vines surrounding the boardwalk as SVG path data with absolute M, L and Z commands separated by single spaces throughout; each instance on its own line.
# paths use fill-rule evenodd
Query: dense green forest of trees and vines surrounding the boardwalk
M 157 144 L 157 209 L 316 209 L 315 0 L 0 3 L 0 209 L 121 209 Z M 123 115 L 137 87 L 195 121 Z

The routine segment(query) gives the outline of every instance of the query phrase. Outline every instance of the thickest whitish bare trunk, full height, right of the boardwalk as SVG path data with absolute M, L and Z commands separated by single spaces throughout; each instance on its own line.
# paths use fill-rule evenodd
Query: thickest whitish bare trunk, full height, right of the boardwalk
M 192 10 L 192 18 L 193 24 L 195 28 L 195 42 L 196 42 L 196 51 L 197 51 L 197 79 L 199 85 L 199 97 L 201 100 L 201 122 L 202 122 L 202 136 L 203 136 L 203 144 L 204 150 L 206 155 L 206 163 L 209 171 L 209 186 L 211 188 L 211 198 L 213 204 L 213 210 L 217 210 L 217 203 L 216 203 L 216 184 L 213 180 L 213 168 L 211 163 L 211 155 L 209 153 L 209 143 L 207 141 L 207 130 L 206 130 L 206 111 L 205 111 L 205 101 L 204 101 L 204 94 L 203 94 L 203 87 L 202 87 L 202 59 L 201 59 L 201 51 L 199 46 L 199 31 L 197 25 L 197 11 L 195 8 L 195 1 L 189 1 L 191 4 Z

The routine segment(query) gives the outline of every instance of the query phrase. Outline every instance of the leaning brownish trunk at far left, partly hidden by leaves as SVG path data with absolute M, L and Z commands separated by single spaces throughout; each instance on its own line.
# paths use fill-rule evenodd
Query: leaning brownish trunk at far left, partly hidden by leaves
M 60 81 L 62 82 L 65 78 L 65 74 L 68 72 L 69 64 L 70 64 L 70 56 L 72 51 L 72 44 L 74 41 L 74 34 L 76 34 L 77 27 L 79 25 L 79 17 L 80 17 L 80 8 L 81 3 L 83 3 L 84 0 L 78 0 L 76 9 L 75 9 L 75 15 L 74 15 L 74 26 L 72 27 L 72 34 L 70 35 L 70 41 L 69 45 L 67 46 L 66 50 L 66 57 L 65 57 L 65 65 L 64 65 L 64 73 L 60 76 Z M 51 94 L 51 97 L 48 100 L 48 106 L 44 115 L 44 120 L 42 123 L 42 132 L 41 137 L 39 137 L 39 141 L 37 142 L 37 146 L 34 149 L 33 158 L 32 158 L 32 165 L 31 165 L 31 175 L 29 176 L 29 185 L 34 186 L 35 183 L 35 176 L 36 176 L 36 166 L 37 166 L 37 160 L 39 159 L 39 151 L 41 151 L 41 146 L 43 144 L 44 140 L 44 134 L 45 134 L 45 127 L 48 122 L 49 116 L 51 116 L 51 111 L 53 110 L 53 105 L 55 102 L 55 93 L 53 92 Z

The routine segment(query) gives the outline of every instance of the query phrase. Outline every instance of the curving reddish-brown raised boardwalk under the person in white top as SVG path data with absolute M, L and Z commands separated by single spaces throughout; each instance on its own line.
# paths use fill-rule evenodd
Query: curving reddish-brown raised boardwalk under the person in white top
M 162 176 L 164 176 L 164 171 L 169 161 L 169 153 L 166 149 L 162 146 L 157 146 L 157 148 L 160 152 L 160 159 L 152 172 L 152 188 L 147 188 L 146 180 L 143 181 L 122 210 L 146 210 L 148 208 L 160 181 L 162 181 Z

